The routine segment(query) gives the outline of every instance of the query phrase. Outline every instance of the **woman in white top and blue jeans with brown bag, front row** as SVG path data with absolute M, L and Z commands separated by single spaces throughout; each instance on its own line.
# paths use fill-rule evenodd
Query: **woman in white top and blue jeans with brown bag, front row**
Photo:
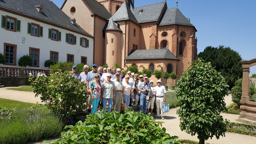
M 125 76 L 125 81 L 123 82 L 124 87 L 124 101 L 127 104 L 127 109 L 129 108 L 130 98 L 131 98 L 131 86 L 129 84 L 130 76 Z

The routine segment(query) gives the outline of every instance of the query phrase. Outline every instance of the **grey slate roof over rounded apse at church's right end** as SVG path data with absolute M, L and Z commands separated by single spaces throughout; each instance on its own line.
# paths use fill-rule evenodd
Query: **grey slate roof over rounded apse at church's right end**
M 179 25 L 186 25 L 186 26 L 193 26 L 188 18 L 186 18 L 178 8 L 170 8 L 165 11 L 163 14 L 162 19 L 160 20 L 159 26 L 164 25 L 172 25 L 172 24 L 179 24 Z

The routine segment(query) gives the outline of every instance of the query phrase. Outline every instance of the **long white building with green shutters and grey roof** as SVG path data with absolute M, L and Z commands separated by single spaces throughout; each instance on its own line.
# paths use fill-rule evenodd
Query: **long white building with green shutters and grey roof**
M 22 67 L 23 55 L 32 57 L 28 68 L 48 69 L 46 60 L 93 64 L 94 37 L 76 19 L 49 0 L 0 0 L 0 53 L 3 66 Z

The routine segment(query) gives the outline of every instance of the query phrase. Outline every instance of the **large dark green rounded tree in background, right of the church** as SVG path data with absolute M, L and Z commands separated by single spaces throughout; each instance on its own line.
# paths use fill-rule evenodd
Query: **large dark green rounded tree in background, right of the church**
M 240 54 L 229 47 L 219 46 L 218 48 L 207 47 L 203 52 L 198 55 L 199 58 L 205 62 L 211 62 L 218 72 L 221 72 L 225 78 L 226 83 L 231 89 L 236 80 L 242 78 L 242 60 Z

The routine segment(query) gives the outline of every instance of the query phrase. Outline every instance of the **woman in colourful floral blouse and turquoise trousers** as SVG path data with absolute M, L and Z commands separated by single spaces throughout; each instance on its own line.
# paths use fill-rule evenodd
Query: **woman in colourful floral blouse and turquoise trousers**
M 90 93 L 91 93 L 91 99 L 92 99 L 92 105 L 93 105 L 93 108 L 91 110 L 92 114 L 97 112 L 97 107 L 100 99 L 101 87 L 100 87 L 100 83 L 98 82 L 99 77 L 100 76 L 98 73 L 94 74 L 94 80 L 90 84 Z

